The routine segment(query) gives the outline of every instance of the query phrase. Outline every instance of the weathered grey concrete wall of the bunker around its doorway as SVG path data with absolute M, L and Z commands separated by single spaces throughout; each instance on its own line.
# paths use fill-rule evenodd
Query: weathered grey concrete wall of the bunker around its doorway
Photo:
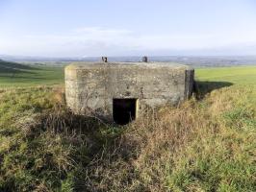
M 168 62 L 85 62 L 65 67 L 65 95 L 76 113 L 97 111 L 112 118 L 114 98 L 138 99 L 145 107 L 177 104 L 192 94 L 193 69 Z

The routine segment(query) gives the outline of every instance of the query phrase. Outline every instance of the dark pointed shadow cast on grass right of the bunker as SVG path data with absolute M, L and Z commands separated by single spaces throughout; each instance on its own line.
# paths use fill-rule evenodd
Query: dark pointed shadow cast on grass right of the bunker
M 213 90 L 219 89 L 219 88 L 223 88 L 226 86 L 231 86 L 233 85 L 230 82 L 200 82 L 200 81 L 196 81 L 195 83 L 195 93 L 197 94 L 197 96 L 199 98 L 204 97 L 207 93 L 212 92 Z

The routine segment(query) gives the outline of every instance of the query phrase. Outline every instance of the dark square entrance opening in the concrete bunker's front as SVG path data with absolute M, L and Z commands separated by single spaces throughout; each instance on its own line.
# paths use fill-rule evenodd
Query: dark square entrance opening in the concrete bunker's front
M 136 118 L 137 99 L 113 99 L 113 118 L 116 124 L 125 125 Z

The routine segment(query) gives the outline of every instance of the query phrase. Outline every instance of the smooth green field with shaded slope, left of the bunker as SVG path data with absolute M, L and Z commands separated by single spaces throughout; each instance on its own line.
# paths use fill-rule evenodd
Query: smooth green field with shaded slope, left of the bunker
M 0 60 L 0 86 L 34 86 L 64 83 L 64 68 L 23 65 Z

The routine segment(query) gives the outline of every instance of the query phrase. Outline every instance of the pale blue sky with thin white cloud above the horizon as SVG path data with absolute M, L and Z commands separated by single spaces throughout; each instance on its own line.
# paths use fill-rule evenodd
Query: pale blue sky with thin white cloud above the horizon
M 0 0 L 0 55 L 256 55 L 256 1 Z

